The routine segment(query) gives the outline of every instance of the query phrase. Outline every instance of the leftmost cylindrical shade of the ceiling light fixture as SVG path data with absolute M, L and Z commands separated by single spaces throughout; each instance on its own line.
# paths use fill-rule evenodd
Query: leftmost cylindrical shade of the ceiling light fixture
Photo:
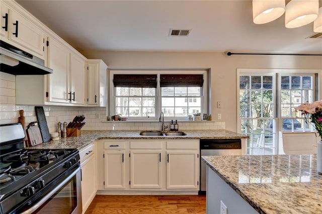
M 265 24 L 281 17 L 285 12 L 285 0 L 253 0 L 255 24 Z

